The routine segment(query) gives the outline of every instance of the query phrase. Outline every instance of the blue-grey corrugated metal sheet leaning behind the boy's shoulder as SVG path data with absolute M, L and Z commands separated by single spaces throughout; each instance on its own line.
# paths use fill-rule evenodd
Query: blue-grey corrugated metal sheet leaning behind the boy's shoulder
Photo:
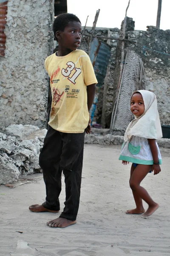
M 103 85 L 110 56 L 111 46 L 94 38 L 90 45 L 90 59 L 98 81 L 97 87 Z

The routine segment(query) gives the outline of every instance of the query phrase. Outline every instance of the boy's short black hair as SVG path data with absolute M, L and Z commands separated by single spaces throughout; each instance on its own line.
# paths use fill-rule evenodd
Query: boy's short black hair
M 81 24 L 81 21 L 79 20 L 79 18 L 76 15 L 71 13 L 62 13 L 55 18 L 53 23 L 53 32 L 54 32 L 55 38 L 56 38 L 56 32 L 58 30 L 64 31 L 65 27 L 68 25 L 70 21 L 77 21 Z

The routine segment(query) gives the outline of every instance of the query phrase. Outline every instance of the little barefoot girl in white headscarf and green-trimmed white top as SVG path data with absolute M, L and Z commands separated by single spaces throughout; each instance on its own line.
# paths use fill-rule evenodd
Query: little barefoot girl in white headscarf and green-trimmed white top
M 135 91 L 130 98 L 130 111 L 135 119 L 127 126 L 119 160 L 125 165 L 132 163 L 130 170 L 130 188 L 133 192 L 136 208 L 126 214 L 150 216 L 158 209 L 146 189 L 140 186 L 148 174 L 161 172 L 161 154 L 156 139 L 162 137 L 156 95 L 147 90 Z M 142 199 L 148 204 L 145 212 Z

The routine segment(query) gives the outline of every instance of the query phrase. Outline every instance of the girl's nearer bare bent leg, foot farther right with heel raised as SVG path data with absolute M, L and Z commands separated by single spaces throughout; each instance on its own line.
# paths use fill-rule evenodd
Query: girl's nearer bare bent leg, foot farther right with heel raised
M 159 207 L 159 204 L 152 200 L 146 189 L 140 186 L 141 181 L 146 177 L 150 169 L 151 166 L 139 164 L 134 169 L 130 178 L 130 188 L 132 191 L 136 192 L 136 194 L 149 205 L 147 211 L 142 214 L 143 216 L 150 216 Z

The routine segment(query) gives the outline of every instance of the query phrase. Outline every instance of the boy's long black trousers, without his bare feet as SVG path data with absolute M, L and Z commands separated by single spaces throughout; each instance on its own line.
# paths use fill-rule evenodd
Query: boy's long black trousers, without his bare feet
M 59 217 L 74 221 L 79 209 L 85 133 L 71 134 L 48 125 L 39 163 L 46 186 L 46 209 L 59 210 L 62 171 L 65 176 L 65 207 Z

